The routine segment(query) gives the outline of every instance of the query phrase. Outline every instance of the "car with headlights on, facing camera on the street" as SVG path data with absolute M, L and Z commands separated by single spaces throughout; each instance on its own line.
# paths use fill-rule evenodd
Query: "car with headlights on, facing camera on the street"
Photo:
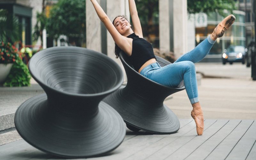
M 222 63 L 226 64 L 229 62 L 233 64 L 233 62 L 242 62 L 242 64 L 244 64 L 246 51 L 247 49 L 242 45 L 230 45 L 222 54 Z

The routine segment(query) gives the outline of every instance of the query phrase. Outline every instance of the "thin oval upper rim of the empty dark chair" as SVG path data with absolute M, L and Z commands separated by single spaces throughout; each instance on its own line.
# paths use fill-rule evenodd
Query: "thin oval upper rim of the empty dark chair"
M 118 68 L 118 70 L 119 70 L 120 73 L 121 73 L 121 74 L 120 74 L 120 75 L 121 75 L 121 78 L 120 78 L 119 82 L 116 84 L 116 86 L 114 86 L 113 88 L 111 88 L 111 89 L 109 89 L 109 90 L 107 90 L 107 91 L 99 92 L 99 93 L 81 94 L 81 93 L 69 93 L 69 92 L 63 92 L 63 91 L 57 90 L 57 89 L 55 89 L 55 88 L 49 86 L 48 84 L 46 84 L 46 83 L 40 81 L 39 78 L 38 78 L 35 74 L 33 74 L 33 72 L 31 72 L 31 69 L 30 69 L 30 67 L 31 67 L 31 60 L 35 59 L 35 58 L 38 56 L 38 53 L 39 53 L 39 54 L 43 54 L 44 52 L 46 52 L 46 51 L 48 51 L 48 50 L 52 50 L 52 49 L 56 49 L 56 48 L 73 48 L 73 49 L 81 49 L 81 50 L 84 50 L 84 51 L 85 51 L 85 50 L 88 50 L 88 51 L 90 51 L 90 52 L 94 52 L 94 54 L 98 54 L 98 55 L 100 55 L 100 56 L 102 56 L 102 57 L 105 57 L 105 59 L 108 59 L 108 60 L 112 61 L 113 64 L 116 65 L 116 68 Z M 33 58 L 33 57 L 34 57 L 34 58 Z M 96 97 L 96 96 L 102 96 L 102 95 L 106 95 L 106 94 L 108 94 L 108 93 L 114 92 L 116 89 L 118 89 L 118 88 L 123 84 L 124 75 L 123 75 L 122 69 L 119 67 L 119 65 L 118 65 L 114 60 L 112 60 L 111 58 L 109 58 L 107 55 L 102 54 L 102 53 L 100 53 L 100 52 L 96 52 L 96 51 L 87 49 L 87 48 L 76 47 L 76 46 L 49 47 L 49 48 L 46 48 L 46 49 L 44 49 L 44 50 L 42 50 L 42 51 L 37 52 L 37 54 L 35 54 L 33 57 L 32 57 L 32 58 L 29 60 L 29 62 L 28 62 L 28 70 L 29 70 L 31 76 L 36 80 L 36 82 L 37 82 L 38 84 L 41 84 L 41 85 L 43 85 L 44 87 L 46 87 L 47 89 L 52 90 L 52 91 L 54 91 L 54 92 L 58 92 L 58 93 L 61 93 L 61 94 L 64 94 L 64 95 L 68 95 L 68 96 L 76 96 L 76 97 Z

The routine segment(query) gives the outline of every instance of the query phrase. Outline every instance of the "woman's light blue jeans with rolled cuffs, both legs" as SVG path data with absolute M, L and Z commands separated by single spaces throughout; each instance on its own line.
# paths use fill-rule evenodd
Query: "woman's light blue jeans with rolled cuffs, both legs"
M 199 102 L 196 82 L 196 62 L 202 60 L 215 43 L 210 36 L 192 51 L 183 54 L 174 63 L 161 67 L 157 62 L 140 71 L 140 74 L 165 86 L 177 87 L 182 80 L 191 104 Z

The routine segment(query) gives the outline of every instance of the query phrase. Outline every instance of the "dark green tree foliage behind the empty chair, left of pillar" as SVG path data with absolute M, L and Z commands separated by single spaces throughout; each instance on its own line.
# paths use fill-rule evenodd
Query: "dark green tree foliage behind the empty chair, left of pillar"
M 49 36 L 85 36 L 85 0 L 59 0 L 46 23 Z

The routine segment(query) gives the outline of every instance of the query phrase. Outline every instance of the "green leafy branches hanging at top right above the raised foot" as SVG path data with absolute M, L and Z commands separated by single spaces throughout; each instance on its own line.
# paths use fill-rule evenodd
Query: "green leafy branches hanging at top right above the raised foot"
M 236 9 L 234 0 L 188 0 L 188 13 L 218 12 L 226 16 L 225 10 L 232 13 Z

